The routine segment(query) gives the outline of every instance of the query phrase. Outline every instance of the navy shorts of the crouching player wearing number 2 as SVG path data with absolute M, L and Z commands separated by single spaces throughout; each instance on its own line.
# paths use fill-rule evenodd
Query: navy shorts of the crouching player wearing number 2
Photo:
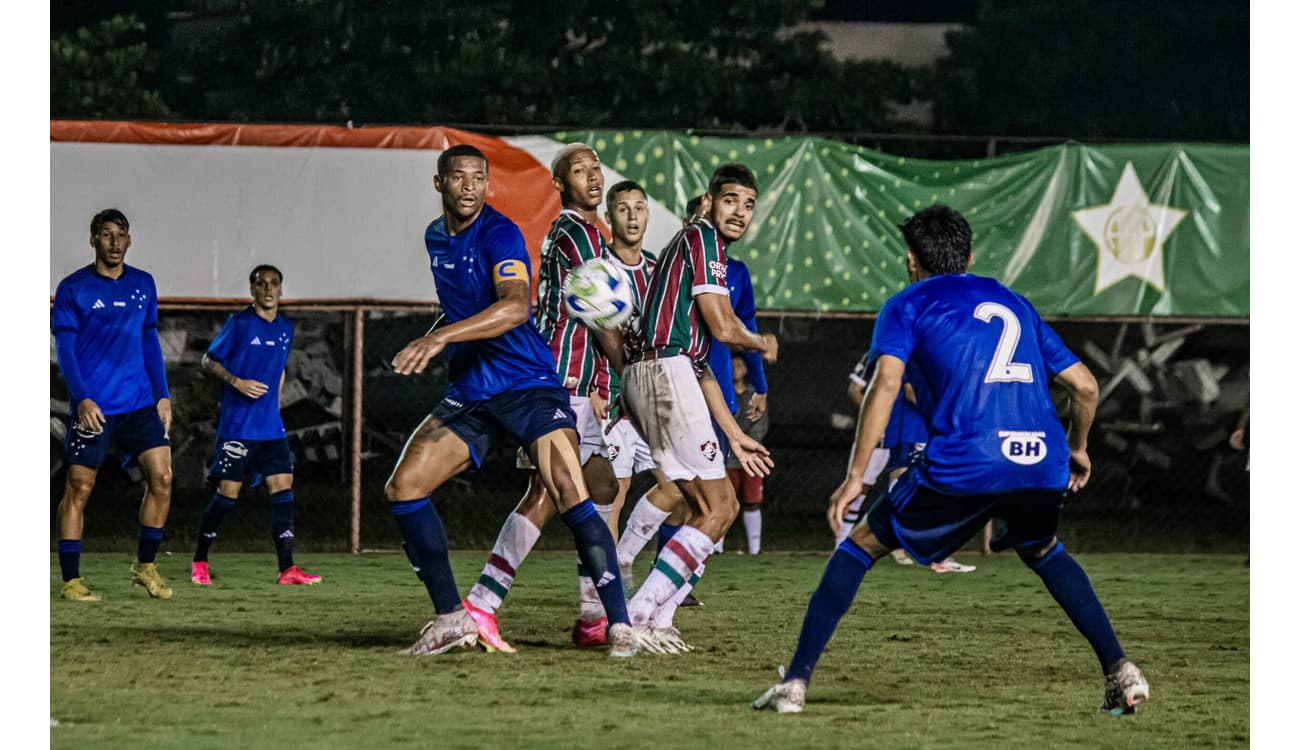
M 959 550 L 989 519 L 1006 524 L 991 542 L 993 550 L 1043 547 L 1056 537 L 1063 504 L 1062 490 L 945 495 L 922 486 L 916 472 L 909 471 L 872 503 L 867 525 L 887 547 L 935 563 Z

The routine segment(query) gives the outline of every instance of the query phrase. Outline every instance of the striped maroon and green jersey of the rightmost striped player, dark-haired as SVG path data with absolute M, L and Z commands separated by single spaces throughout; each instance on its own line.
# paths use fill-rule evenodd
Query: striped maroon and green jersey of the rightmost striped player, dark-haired
M 659 253 L 634 334 L 636 360 L 684 355 L 696 369 L 708 365 L 712 334 L 697 294 L 727 296 L 727 240 L 707 220 L 682 229 Z

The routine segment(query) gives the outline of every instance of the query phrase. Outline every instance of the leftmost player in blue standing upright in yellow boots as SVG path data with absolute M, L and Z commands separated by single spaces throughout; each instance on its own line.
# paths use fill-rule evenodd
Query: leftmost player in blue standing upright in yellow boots
M 98 602 L 81 575 L 86 502 L 112 446 L 135 456 L 144 472 L 140 534 L 131 581 L 150 597 L 172 589 L 153 563 L 172 506 L 172 399 L 159 343 L 157 287 L 126 265 L 131 225 L 116 208 L 90 221 L 95 263 L 58 282 L 51 330 L 72 407 L 64 439 L 68 480 L 58 503 L 62 598 Z

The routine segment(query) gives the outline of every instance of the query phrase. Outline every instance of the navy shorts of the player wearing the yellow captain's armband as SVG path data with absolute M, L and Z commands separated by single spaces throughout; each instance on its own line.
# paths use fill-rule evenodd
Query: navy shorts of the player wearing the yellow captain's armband
M 433 407 L 432 416 L 465 441 L 474 467 L 481 467 L 499 442 L 526 448 L 555 430 L 577 432 L 568 391 L 558 386 L 506 391 L 481 402 L 460 403 L 445 398 Z

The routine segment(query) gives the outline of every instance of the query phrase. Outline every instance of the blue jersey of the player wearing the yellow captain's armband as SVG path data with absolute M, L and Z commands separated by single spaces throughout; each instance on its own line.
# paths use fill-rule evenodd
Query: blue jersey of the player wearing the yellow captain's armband
M 456 235 L 447 234 L 445 217 L 436 218 L 424 233 L 424 244 L 448 324 L 495 303 L 498 279 L 532 279 L 524 235 L 486 204 Z M 498 337 L 452 343 L 446 351 L 448 399 L 476 402 L 511 390 L 559 386 L 555 359 L 532 315 Z

